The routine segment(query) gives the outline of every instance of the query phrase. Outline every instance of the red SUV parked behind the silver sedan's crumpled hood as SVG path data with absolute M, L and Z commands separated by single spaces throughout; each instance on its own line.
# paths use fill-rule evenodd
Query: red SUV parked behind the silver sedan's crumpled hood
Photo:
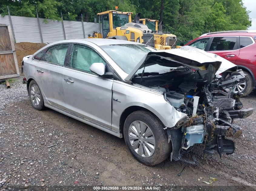
M 217 54 L 238 66 L 247 74 L 245 82 L 234 87 L 244 96 L 256 86 L 256 31 L 223 31 L 206 33 L 186 45 Z

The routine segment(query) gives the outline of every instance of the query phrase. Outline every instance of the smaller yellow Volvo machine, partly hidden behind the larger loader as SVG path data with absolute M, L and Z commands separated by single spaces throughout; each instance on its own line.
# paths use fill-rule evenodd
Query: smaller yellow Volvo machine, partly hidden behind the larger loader
M 140 19 L 140 23 L 147 25 L 149 29 L 154 31 L 156 49 L 176 48 L 177 37 L 174 34 L 162 33 L 163 22 L 159 23 L 159 30 L 158 30 L 158 20 Z

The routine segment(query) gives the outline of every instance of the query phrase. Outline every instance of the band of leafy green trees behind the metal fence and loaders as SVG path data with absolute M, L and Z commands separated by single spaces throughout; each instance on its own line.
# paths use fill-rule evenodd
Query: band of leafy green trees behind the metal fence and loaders
M 245 30 L 251 26 L 242 0 L 0 0 L 0 13 L 61 20 L 93 22 L 103 11 L 141 13 L 141 18 L 164 21 L 163 30 L 181 40 L 191 40 L 208 31 Z M 45 20 L 46 21 L 46 20 Z

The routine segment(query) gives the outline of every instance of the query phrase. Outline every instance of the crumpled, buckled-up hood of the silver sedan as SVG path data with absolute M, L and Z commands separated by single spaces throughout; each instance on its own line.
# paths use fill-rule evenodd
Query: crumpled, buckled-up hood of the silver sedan
M 216 74 L 220 74 L 226 70 L 230 72 L 237 70 L 236 65 L 216 54 L 207 53 L 204 50 L 192 46 L 183 46 L 179 49 L 149 52 L 128 74 L 125 80 L 131 80 L 138 69 L 143 68 L 145 65 L 155 64 L 168 67 L 185 66 L 194 70 L 205 71 L 205 79 L 209 82 L 215 78 Z

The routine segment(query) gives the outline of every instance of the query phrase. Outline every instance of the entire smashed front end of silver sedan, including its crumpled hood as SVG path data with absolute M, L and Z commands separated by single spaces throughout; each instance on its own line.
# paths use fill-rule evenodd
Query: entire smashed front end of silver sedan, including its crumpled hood
M 148 72 L 148 66 L 171 67 L 165 72 Z M 137 70 L 142 72 L 135 74 Z M 245 81 L 242 70 L 221 57 L 193 47 L 151 52 L 141 61 L 126 80 L 161 91 L 175 110 L 185 113 L 173 127 L 166 127 L 168 142 L 172 144 L 171 160 L 182 159 L 195 144 L 204 144 L 204 153 L 213 155 L 234 153 L 234 142 L 241 127 L 235 118 L 246 118 L 252 108 L 243 109 L 240 94 L 233 87 Z M 223 78 L 223 76 L 230 76 Z M 170 116 L 171 117 L 171 116 Z

